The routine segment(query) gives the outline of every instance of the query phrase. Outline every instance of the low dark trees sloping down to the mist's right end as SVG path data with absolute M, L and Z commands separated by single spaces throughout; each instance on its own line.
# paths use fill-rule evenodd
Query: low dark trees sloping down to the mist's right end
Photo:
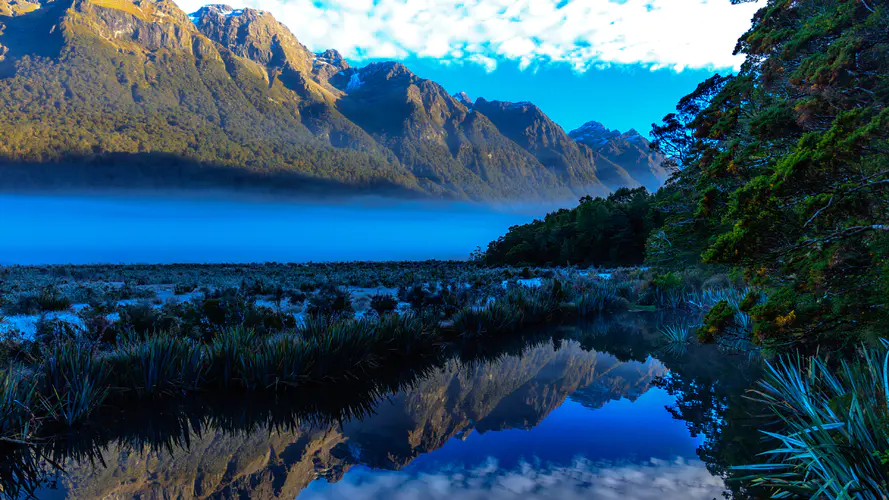
M 607 198 L 585 197 L 571 210 L 550 213 L 543 220 L 513 226 L 488 245 L 489 266 L 641 264 L 652 227 L 653 196 L 645 188 L 622 188 Z

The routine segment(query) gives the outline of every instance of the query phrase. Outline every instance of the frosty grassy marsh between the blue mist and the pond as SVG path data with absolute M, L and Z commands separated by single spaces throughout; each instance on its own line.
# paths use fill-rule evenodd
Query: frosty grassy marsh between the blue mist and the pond
M 77 425 L 106 400 L 385 376 L 436 359 L 449 344 L 471 351 L 535 325 L 655 301 L 643 271 L 611 276 L 454 262 L 0 267 L 6 314 L 68 309 L 75 300 L 82 320 L 47 317 L 36 338 L 0 342 L 0 359 L 20 363 L 2 371 L 7 394 L 28 395 L 13 398 L 25 413 L 6 405 L 3 435 Z M 369 309 L 356 319 L 361 301 Z M 32 386 L 19 380 L 26 373 Z

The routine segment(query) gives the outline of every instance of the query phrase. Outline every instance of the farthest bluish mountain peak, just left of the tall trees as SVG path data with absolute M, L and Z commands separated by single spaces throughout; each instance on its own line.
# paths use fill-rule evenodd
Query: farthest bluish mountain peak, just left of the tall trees
M 650 141 L 634 129 L 621 133 L 618 130 L 609 130 L 599 122 L 590 121 L 568 135 L 590 148 L 597 164 L 611 163 L 627 173 L 616 178 L 603 176 L 602 180 L 608 185 L 635 187 L 632 184 L 635 181 L 653 192 L 670 176 L 670 172 L 663 167 L 664 156 L 651 151 Z M 613 172 L 617 173 L 618 170 L 613 169 Z

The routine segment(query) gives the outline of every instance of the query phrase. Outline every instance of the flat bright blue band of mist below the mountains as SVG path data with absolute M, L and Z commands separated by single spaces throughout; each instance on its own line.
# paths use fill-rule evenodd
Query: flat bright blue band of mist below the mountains
M 0 265 L 465 259 L 544 209 L 0 194 Z

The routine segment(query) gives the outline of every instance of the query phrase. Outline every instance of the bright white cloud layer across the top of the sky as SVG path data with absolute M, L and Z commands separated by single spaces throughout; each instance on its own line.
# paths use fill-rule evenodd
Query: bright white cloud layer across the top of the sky
M 204 0 L 177 0 L 187 12 Z M 310 49 L 417 55 L 495 67 L 564 63 L 738 68 L 735 42 L 762 5 L 729 0 L 231 0 L 271 12 Z M 458 55 L 459 54 L 459 55 Z M 492 62 L 493 61 L 493 62 Z M 457 61 L 452 61 L 457 62 Z

